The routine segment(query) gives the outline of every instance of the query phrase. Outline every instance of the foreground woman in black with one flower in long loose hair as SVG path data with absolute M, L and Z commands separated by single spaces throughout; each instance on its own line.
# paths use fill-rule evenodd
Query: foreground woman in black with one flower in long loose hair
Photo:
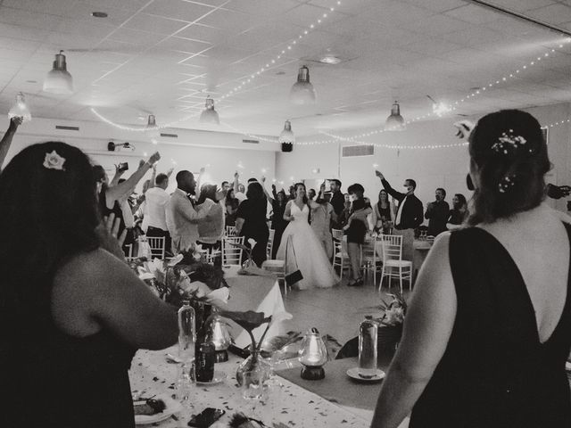
M 113 218 L 102 226 L 89 159 L 31 145 L 0 201 L 2 425 L 134 427 L 131 358 L 175 343 L 177 313 L 128 268 Z

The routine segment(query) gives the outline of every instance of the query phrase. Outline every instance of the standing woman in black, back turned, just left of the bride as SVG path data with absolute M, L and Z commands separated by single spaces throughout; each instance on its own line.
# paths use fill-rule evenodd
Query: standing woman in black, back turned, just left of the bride
M 252 260 L 261 268 L 266 259 L 266 246 L 268 245 L 269 230 L 266 222 L 266 210 L 268 200 L 260 183 L 253 182 L 248 185 L 246 191 L 248 199 L 240 203 L 236 213 L 236 232 L 244 236 L 244 245 L 250 247 L 249 239 L 253 239 L 256 245 L 252 250 Z

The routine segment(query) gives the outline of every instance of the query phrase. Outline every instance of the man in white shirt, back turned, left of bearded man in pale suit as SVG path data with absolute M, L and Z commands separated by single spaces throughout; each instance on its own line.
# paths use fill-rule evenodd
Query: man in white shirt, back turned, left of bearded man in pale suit
M 170 199 L 169 193 L 166 192 L 169 187 L 169 176 L 159 174 L 154 182 L 154 187 L 145 193 L 146 235 L 164 237 L 164 248 L 170 252 L 171 239 L 166 217 L 166 207 Z

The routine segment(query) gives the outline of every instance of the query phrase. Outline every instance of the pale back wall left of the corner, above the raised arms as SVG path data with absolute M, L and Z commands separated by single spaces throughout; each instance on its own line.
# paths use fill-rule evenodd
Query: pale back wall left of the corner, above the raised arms
M 76 126 L 78 131 L 57 130 L 55 125 Z M 110 172 L 114 173 L 113 164 L 128 162 L 129 172 L 137 169 L 138 162 L 148 157 L 155 151 L 161 153 L 161 161 L 157 172 L 166 172 L 174 167 L 173 179 L 170 180 L 170 190 L 176 188 L 174 175 L 181 169 L 198 172 L 201 167 L 210 164 L 205 172 L 204 180 L 220 184 L 222 181 L 232 181 L 234 173 L 238 170 L 241 174 L 240 181 L 244 184 L 249 177 L 260 177 L 262 169 L 266 169 L 267 177 L 275 176 L 276 151 L 278 144 L 264 143 L 245 144 L 241 135 L 193 131 L 188 129 L 168 129 L 164 132 L 176 133 L 183 143 L 177 145 L 161 141 L 159 144 L 151 144 L 144 134 L 121 131 L 103 123 L 79 122 L 68 120 L 36 119 L 24 123 L 14 136 L 12 147 L 8 152 L 6 161 L 21 151 L 24 147 L 41 141 L 58 140 L 75 145 L 87 152 L 94 163 L 98 163 Z M 166 140 L 166 139 L 165 139 Z M 107 152 L 107 143 L 130 142 L 135 145 L 134 152 Z M 146 153 L 146 155 L 145 155 Z M 239 168 L 240 165 L 243 168 Z M 145 178 L 151 177 L 147 173 Z M 111 177 L 110 177 L 111 178 Z M 141 180 L 137 191 L 140 190 L 144 180 Z

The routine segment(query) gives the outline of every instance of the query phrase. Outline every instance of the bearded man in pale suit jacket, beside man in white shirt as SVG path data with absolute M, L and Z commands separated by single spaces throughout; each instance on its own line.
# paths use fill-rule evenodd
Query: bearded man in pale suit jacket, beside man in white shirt
M 194 206 L 190 196 L 196 193 L 196 181 L 192 172 L 183 170 L 177 174 L 177 190 L 170 195 L 166 209 L 167 227 L 172 238 L 172 251 L 177 254 L 198 241 L 198 223 L 208 221 L 209 211 Z

